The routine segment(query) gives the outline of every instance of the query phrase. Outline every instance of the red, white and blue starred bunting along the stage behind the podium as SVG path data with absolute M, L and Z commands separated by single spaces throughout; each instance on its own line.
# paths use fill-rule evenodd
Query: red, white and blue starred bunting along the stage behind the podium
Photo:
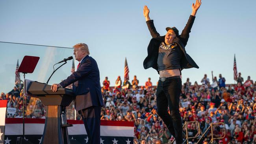
M 4 118 L 4 116 L 1 117 L 3 120 Z M 69 139 L 75 139 L 80 144 L 88 144 L 87 132 L 83 121 L 67 120 L 67 122 L 73 125 L 72 127 L 68 127 Z M 25 139 L 33 144 L 43 144 L 41 142 L 43 140 L 45 119 L 25 118 L 25 126 Z M 16 144 L 17 137 L 22 137 L 22 118 L 6 118 L 5 126 L 3 123 L 3 127 L 1 128 L 1 133 L 3 132 L 2 141 L 5 144 Z M 100 144 L 133 144 L 133 142 L 134 122 L 100 121 Z

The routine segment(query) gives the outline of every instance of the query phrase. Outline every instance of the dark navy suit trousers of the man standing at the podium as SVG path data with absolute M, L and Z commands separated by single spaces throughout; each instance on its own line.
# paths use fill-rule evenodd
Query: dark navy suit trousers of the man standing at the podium
M 86 144 L 100 144 L 100 111 L 101 107 L 96 106 L 79 111 L 87 133 L 88 143 L 85 142 Z

